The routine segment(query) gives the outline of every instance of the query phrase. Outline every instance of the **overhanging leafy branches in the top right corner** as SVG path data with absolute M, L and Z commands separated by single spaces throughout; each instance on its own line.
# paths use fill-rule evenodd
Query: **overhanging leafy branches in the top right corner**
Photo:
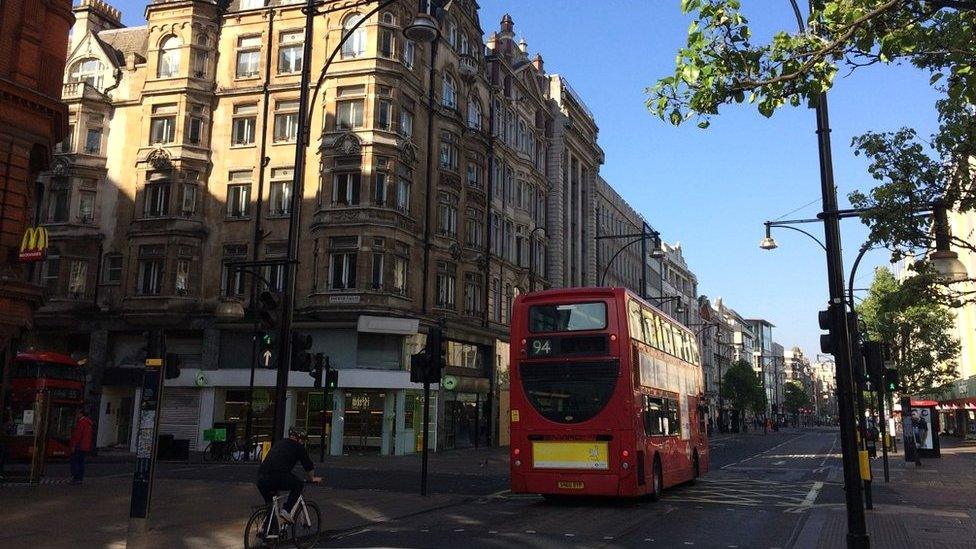
M 725 104 L 748 102 L 767 117 L 787 103 L 813 106 L 842 68 L 914 65 L 939 93 L 938 131 L 928 139 L 911 128 L 855 138 L 854 153 L 868 158 L 878 184 L 849 198 L 871 209 L 862 216 L 871 243 L 923 257 L 932 238 L 919 206 L 941 200 L 953 210 L 976 209 L 976 0 L 812 0 L 806 21 L 790 2 L 797 30 L 755 43 L 739 0 L 682 0 L 694 17 L 687 44 L 674 74 L 648 88 L 648 108 L 674 125 L 696 119 L 706 128 Z M 954 235 L 952 244 L 976 251 L 966 238 Z M 922 275 L 917 285 L 949 286 L 924 264 L 913 268 Z M 976 300 L 965 287 L 927 292 L 958 306 Z

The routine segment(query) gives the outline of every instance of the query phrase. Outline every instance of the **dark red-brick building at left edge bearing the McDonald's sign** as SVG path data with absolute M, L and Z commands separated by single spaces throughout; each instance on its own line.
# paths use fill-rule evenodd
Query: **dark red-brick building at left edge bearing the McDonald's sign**
M 66 131 L 60 74 L 72 21 L 68 1 L 0 4 L 0 406 L 10 379 L 5 364 L 43 299 L 42 288 L 24 281 L 18 255 L 36 222 L 34 181 Z

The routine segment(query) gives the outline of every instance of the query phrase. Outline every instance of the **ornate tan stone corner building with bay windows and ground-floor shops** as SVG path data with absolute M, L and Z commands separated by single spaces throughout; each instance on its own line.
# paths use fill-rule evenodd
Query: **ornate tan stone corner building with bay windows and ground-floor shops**
M 552 127 L 541 58 L 514 43 L 510 17 L 485 50 L 473 0 L 443 13 L 436 55 L 403 35 L 416 2 L 368 17 L 378 3 L 347 4 L 316 16 L 324 38 L 307 60 L 315 82 L 348 37 L 311 104 L 294 323 L 339 370 L 339 390 L 323 402 L 311 377 L 291 372 L 286 423 L 334 454 L 417 451 L 409 356 L 443 321 L 445 373 L 459 382 L 435 391 L 428 442 L 495 443 L 509 308 L 530 286 L 530 249 L 541 256 L 548 238 L 534 231 Z M 287 255 L 301 5 L 157 1 L 133 28 L 101 2 L 76 14 L 64 84 L 73 137 L 41 178 L 58 253 L 34 277 L 54 299 L 31 344 L 89 356 L 91 397 L 110 403 L 98 444 L 131 446 L 143 332 L 165 328 L 184 367 L 167 382 L 162 428 L 199 450 L 214 423 L 241 434 L 259 358 L 255 317 L 227 318 L 225 305 L 283 285 L 280 264 L 234 265 Z M 546 287 L 539 256 L 534 281 Z M 262 437 L 274 376 L 257 366 Z

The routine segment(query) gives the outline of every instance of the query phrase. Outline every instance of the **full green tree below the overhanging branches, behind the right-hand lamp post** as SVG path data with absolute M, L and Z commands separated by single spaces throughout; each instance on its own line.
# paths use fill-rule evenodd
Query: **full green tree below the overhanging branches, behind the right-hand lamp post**
M 878 268 L 857 311 L 868 337 L 891 346 L 906 394 L 936 392 L 956 378 L 953 315 L 937 300 Z

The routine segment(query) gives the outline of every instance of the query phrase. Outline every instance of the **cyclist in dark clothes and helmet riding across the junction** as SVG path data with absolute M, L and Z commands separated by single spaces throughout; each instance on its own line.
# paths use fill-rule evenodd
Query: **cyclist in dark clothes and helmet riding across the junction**
M 302 479 L 292 474 L 292 469 L 299 462 L 308 480 L 314 483 L 321 482 L 320 477 L 315 476 L 315 466 L 308 457 L 308 450 L 305 449 L 305 441 L 308 435 L 303 429 L 292 427 L 288 429 L 288 438 L 275 443 L 268 452 L 268 456 L 261 462 L 258 468 L 258 491 L 264 502 L 271 505 L 271 497 L 275 492 L 288 490 L 288 500 L 281 508 L 281 518 L 288 522 L 293 522 L 295 504 L 298 503 L 298 496 L 302 495 L 305 483 Z

